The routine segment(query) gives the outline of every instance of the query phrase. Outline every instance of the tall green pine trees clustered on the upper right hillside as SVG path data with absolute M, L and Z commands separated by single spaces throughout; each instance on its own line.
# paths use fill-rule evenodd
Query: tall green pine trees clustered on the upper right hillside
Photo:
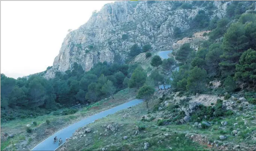
M 227 92 L 241 82 L 247 88 L 256 88 L 256 15 L 242 14 L 236 22 L 229 22 L 227 18 L 217 19 L 216 26 L 212 22 L 210 39 L 198 52 L 189 43 L 178 49 L 175 59 L 180 70 L 172 74 L 173 88 L 201 93 L 212 78 L 225 81 Z

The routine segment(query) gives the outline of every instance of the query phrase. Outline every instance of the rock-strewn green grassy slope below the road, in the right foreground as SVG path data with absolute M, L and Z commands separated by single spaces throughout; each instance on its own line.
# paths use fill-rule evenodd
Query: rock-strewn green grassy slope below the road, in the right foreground
M 220 147 L 207 145 L 208 141 L 218 141 L 219 146 L 223 143 L 229 143 L 228 146 L 222 146 L 222 149 L 231 150 L 239 144 L 241 148 L 248 150 L 252 149 L 250 145 L 256 144 L 256 139 L 253 139 L 253 136 L 256 137 L 255 119 L 250 118 L 256 115 L 255 106 L 247 111 L 241 111 L 236 115 L 217 120 L 218 123 L 212 124 L 208 129 L 197 129 L 193 127 L 194 122 L 182 125 L 157 126 L 157 119 L 164 119 L 169 114 L 167 110 L 153 111 L 154 105 L 157 103 L 158 100 L 151 101 L 149 111 L 145 108 L 145 104 L 140 104 L 89 124 L 90 133 L 86 133 L 85 137 L 79 138 L 80 135 L 78 135 L 77 139 L 70 139 L 63 145 L 65 147 L 58 150 L 102 150 L 102 148 L 108 148 L 108 150 L 144 150 L 145 142 L 150 144 L 148 150 L 220 150 Z M 243 113 L 249 114 L 250 117 Z M 127 117 L 123 117 L 124 115 Z M 157 116 L 151 121 L 141 121 L 143 115 Z M 247 124 L 244 124 L 243 119 L 247 121 Z M 222 126 L 221 121 L 227 121 L 228 125 Z M 238 124 L 234 126 L 234 123 Z M 120 131 L 105 131 L 106 127 L 103 127 L 105 124 L 118 125 Z M 136 126 L 142 128 L 138 135 L 135 135 Z M 240 129 L 240 135 L 231 135 L 232 130 L 237 128 Z M 94 131 L 97 132 L 93 133 Z M 104 136 L 105 133 L 108 133 L 108 136 Z M 169 135 L 165 136 L 167 133 Z M 228 138 L 222 141 L 219 139 L 220 135 L 225 135 Z M 128 139 L 124 140 L 124 136 L 128 136 Z M 162 143 L 158 143 L 160 140 Z

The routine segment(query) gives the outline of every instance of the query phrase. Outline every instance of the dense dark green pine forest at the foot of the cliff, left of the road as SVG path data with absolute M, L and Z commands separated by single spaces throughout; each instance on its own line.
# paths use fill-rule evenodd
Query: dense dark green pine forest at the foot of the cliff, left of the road
M 57 109 L 77 103 L 96 102 L 132 84 L 129 78 L 138 64 L 98 63 L 84 72 L 77 63 L 72 70 L 57 72 L 55 78 L 42 76 L 13 79 L 1 74 L 1 108 Z M 135 83 L 136 84 L 136 83 Z

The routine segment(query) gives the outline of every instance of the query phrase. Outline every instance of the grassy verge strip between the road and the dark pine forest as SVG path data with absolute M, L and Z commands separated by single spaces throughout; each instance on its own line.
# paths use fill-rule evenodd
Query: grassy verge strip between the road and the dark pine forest
M 22 120 L 13 120 L 3 124 L 1 123 L 1 132 L 14 134 L 13 138 L 1 141 L 1 150 L 30 150 L 48 136 L 72 123 L 75 123 L 76 121 L 135 99 L 135 91 L 135 89 L 129 88 L 121 90 L 114 95 L 115 99 L 112 99 L 112 97 L 103 99 L 86 108 L 82 108 L 73 115 L 55 116 L 51 113 L 49 115 L 43 115 L 36 118 L 27 118 Z M 45 123 L 46 120 L 50 120 L 51 123 L 47 125 Z M 36 121 L 37 126 L 33 126 L 33 124 L 31 124 L 33 121 Z M 31 128 L 36 128 L 36 130 L 32 133 L 27 133 L 25 131 L 27 124 L 31 124 Z M 13 146 L 14 144 L 16 144 L 16 146 Z

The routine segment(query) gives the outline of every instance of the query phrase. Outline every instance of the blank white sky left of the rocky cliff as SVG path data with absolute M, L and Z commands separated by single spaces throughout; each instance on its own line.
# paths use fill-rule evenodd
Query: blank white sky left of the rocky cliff
M 68 33 L 114 1 L 1 1 L 1 73 L 18 78 L 46 70 Z

